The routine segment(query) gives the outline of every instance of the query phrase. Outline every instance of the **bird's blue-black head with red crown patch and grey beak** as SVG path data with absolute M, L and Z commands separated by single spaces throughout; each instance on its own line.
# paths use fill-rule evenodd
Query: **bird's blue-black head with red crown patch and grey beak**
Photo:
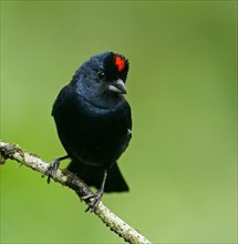
M 83 93 L 116 96 L 126 93 L 127 72 L 128 60 L 125 57 L 104 52 L 83 63 L 72 82 L 77 83 Z

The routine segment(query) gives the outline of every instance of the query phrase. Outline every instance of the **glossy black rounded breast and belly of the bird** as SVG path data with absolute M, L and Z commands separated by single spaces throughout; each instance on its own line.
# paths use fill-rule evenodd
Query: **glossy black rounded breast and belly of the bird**
M 69 154 L 87 164 L 115 162 L 128 143 L 128 119 L 123 104 L 100 108 L 87 102 L 64 106 L 54 115 L 58 133 Z

